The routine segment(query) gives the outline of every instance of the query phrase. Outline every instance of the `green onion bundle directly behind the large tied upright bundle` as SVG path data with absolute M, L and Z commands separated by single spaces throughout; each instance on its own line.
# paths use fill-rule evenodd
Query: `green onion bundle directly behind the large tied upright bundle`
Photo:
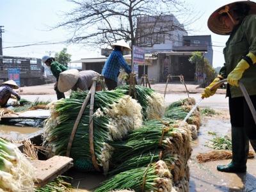
M 117 91 L 129 94 L 129 85 L 118 86 Z M 136 92 L 136 94 L 134 94 Z M 132 90 L 132 97 L 138 100 L 143 110 L 143 117 L 151 120 L 161 118 L 164 114 L 164 97 L 154 90 L 145 86 L 136 85 L 135 90 Z

